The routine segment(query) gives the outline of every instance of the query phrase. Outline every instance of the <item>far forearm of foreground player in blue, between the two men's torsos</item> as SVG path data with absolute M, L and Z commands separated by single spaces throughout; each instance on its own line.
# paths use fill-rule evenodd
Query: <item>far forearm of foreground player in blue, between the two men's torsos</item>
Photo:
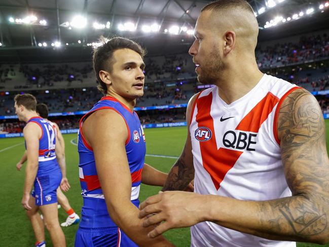
M 167 175 L 167 173 L 159 171 L 151 165 L 144 163 L 141 172 L 141 182 L 145 185 L 163 186 L 167 179 Z

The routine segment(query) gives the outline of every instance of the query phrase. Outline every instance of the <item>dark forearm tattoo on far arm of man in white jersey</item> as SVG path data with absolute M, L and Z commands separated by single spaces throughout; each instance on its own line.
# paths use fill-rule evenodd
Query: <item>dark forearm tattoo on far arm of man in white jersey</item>
M 194 178 L 193 164 L 186 164 L 186 152 L 182 152 L 176 163 L 172 166 L 162 191 L 184 190 Z

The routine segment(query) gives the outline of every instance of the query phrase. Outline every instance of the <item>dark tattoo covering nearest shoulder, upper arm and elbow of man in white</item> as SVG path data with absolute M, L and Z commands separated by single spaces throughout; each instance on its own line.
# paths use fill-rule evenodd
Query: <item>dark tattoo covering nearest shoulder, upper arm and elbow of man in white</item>
M 301 241 L 329 237 L 329 162 L 325 127 L 316 99 L 297 89 L 279 111 L 278 134 L 287 184 L 292 197 L 263 202 L 260 217 L 269 232 L 285 232 Z M 272 213 L 274 219 L 266 215 Z

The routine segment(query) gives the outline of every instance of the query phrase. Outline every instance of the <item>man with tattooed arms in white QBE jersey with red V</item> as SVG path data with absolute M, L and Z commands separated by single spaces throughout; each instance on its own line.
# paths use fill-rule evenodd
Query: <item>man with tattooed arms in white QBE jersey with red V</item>
M 191 227 L 193 246 L 296 246 L 329 241 L 329 161 L 322 112 L 306 90 L 258 68 L 258 23 L 249 4 L 208 4 L 189 53 L 201 83 L 188 138 L 163 191 L 194 177 L 197 193 L 164 192 L 141 203 L 151 237 Z M 278 241 L 283 240 L 283 241 Z

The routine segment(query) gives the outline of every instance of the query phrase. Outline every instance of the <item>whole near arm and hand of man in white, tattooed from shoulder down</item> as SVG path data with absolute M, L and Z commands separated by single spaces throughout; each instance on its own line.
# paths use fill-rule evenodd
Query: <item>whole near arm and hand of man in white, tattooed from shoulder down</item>
M 141 211 L 140 217 L 162 210 L 145 220 L 144 226 L 165 220 L 150 235 L 156 236 L 173 226 L 212 221 L 268 239 L 328 242 L 329 161 L 324 121 L 316 99 L 309 92 L 297 89 L 283 101 L 278 136 L 284 173 L 293 196 L 242 201 L 216 195 L 165 192 L 141 204 L 146 210 Z

